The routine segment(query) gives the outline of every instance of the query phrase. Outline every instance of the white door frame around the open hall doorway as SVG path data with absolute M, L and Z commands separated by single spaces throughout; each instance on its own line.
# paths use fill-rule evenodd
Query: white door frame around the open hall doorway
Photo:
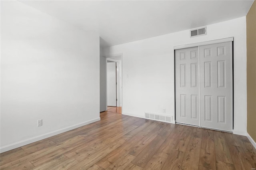
M 107 56 L 104 56 L 106 57 L 106 77 L 107 77 L 107 69 L 108 69 L 108 61 L 114 61 L 116 62 L 116 82 L 117 82 L 117 85 L 116 85 L 116 97 L 117 97 L 117 107 L 122 107 L 122 113 L 123 113 L 123 54 L 120 53 L 120 54 L 116 54 L 116 55 L 107 55 Z M 121 69 L 119 71 L 119 69 Z M 121 72 L 121 74 L 120 74 Z M 121 77 L 121 78 L 120 78 Z M 121 83 L 121 88 L 119 87 Z M 108 89 L 107 89 L 107 78 L 106 78 L 106 101 L 108 100 Z M 120 95 L 122 96 L 122 101 L 120 99 Z M 108 104 L 106 102 L 106 110 L 108 110 Z

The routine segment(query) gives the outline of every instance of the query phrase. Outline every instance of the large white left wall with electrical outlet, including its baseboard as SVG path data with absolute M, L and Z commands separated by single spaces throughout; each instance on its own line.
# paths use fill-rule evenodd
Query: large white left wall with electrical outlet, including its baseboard
M 98 34 L 1 1 L 1 152 L 100 120 L 99 51 Z

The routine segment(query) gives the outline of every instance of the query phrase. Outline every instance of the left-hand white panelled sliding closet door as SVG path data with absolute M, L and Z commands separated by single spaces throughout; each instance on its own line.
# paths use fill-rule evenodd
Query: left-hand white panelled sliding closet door
M 176 122 L 199 125 L 198 47 L 177 49 Z

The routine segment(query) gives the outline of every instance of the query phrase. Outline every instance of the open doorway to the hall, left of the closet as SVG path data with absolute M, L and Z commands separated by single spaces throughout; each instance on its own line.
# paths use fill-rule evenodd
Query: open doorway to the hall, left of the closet
M 106 110 L 122 114 L 122 55 L 106 57 Z

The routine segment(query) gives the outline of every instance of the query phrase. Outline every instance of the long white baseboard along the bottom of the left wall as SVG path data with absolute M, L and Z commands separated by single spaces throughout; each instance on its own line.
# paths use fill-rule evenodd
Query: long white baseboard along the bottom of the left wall
M 96 119 L 92 119 L 90 121 L 85 121 L 83 123 L 79 123 L 79 124 L 76 124 L 76 125 L 72 125 L 70 127 L 66 127 L 66 128 L 62 128 L 62 129 L 58 129 L 58 130 L 54 130 L 52 132 L 48 132 L 48 133 L 45 133 L 45 134 L 41 134 L 39 136 L 35 136 L 35 137 L 32 137 L 32 138 L 28 138 L 28 139 L 25 139 L 25 140 L 21 140 L 19 142 L 15 142 L 15 143 L 12 143 L 12 144 L 8 144 L 6 146 L 2 146 L 0 148 L 0 153 L 2 152 L 6 152 L 8 150 L 12 150 L 12 149 L 15 149 L 15 148 L 18 148 L 18 147 L 21 147 L 21 146 L 24 146 L 26 144 L 30 144 L 30 143 L 33 143 L 33 142 L 37 142 L 39 140 L 42 140 L 42 139 L 45 139 L 45 138 L 49 138 L 51 136 L 54 136 L 56 134 L 60 134 L 60 133 L 63 133 L 63 132 L 67 132 L 69 130 L 72 130 L 72 129 L 75 129 L 75 128 L 78 128 L 78 127 L 82 127 L 84 125 L 88 125 L 90 123 L 94 123 L 96 121 L 100 121 L 100 117 L 99 118 L 96 118 Z

